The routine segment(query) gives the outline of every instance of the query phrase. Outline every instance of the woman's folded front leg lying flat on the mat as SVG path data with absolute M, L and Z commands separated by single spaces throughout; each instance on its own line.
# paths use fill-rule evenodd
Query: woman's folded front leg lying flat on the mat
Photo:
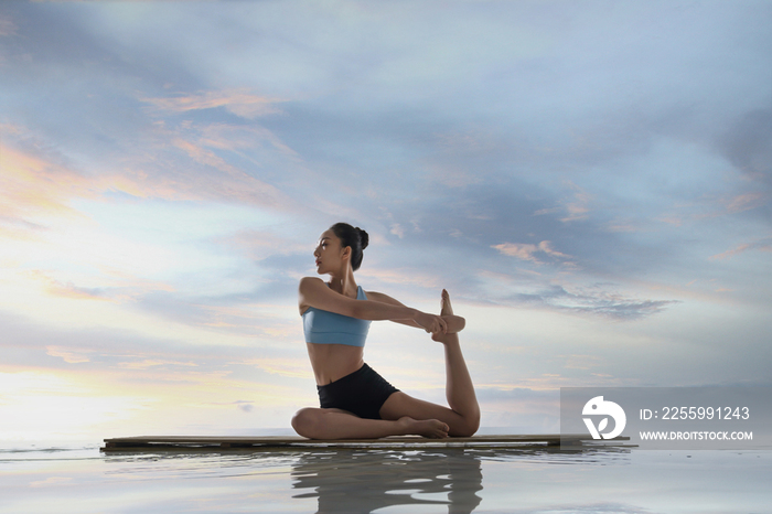
M 395 393 L 397 394 L 397 393 Z M 392 395 L 394 396 L 394 395 Z M 292 418 L 292 428 L 309 439 L 378 439 L 387 436 L 448 437 L 448 425 L 437 419 L 364 419 L 346 410 L 304 408 Z

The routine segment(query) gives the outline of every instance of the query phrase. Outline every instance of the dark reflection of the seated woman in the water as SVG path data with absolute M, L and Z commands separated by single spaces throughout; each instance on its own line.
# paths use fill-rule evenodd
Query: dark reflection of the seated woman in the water
M 471 513 L 482 499 L 480 458 L 463 450 L 330 450 L 292 467 L 293 497 L 319 501 L 319 513 L 372 512 L 393 505 L 448 505 Z

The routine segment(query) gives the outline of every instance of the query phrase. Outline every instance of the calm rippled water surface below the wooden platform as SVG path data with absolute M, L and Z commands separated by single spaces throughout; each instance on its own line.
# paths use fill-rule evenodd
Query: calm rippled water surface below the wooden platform
M 3 513 L 769 513 L 772 452 L 0 451 Z

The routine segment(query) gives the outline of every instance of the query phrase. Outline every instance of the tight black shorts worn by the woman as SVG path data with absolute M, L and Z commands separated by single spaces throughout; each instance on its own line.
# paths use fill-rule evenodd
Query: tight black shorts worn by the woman
M 361 418 L 380 419 L 380 407 L 399 389 L 364 364 L 351 375 L 323 386 L 318 385 L 317 390 L 323 409 L 343 409 Z

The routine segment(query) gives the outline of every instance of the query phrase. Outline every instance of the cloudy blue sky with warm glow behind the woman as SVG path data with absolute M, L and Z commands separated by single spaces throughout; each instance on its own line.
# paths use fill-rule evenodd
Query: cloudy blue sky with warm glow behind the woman
M 772 2 L 0 4 L 0 440 L 290 430 L 298 280 L 467 319 L 482 426 L 769 385 Z M 442 351 L 366 361 L 443 401 Z

